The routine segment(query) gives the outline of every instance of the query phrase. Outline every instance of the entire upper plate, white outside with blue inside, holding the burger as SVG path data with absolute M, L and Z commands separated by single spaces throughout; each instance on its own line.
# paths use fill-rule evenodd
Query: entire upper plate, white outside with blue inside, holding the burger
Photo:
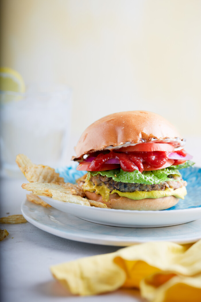
M 75 167 L 58 169 L 65 182 L 75 182 L 80 177 Z M 100 209 L 70 204 L 64 201 L 42 197 L 48 204 L 61 210 L 80 217 L 82 219 L 110 226 L 124 227 L 160 227 L 187 223 L 201 218 L 201 168 L 181 169 L 184 180 L 187 181 L 187 196 L 170 209 L 162 211 L 131 211 Z

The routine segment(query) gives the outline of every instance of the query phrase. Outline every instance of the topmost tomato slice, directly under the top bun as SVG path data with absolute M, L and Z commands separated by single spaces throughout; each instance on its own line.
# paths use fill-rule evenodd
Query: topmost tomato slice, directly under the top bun
M 126 151 L 167 151 L 173 152 L 174 146 L 166 143 L 140 143 L 135 146 L 122 147 L 116 149 L 115 152 L 126 152 Z

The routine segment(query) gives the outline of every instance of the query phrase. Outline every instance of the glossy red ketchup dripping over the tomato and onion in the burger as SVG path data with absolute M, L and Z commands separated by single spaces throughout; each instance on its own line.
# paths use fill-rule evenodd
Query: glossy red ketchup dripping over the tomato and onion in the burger
M 144 165 L 154 168 L 162 167 L 168 160 L 168 152 L 165 151 L 149 151 L 149 152 L 114 152 L 107 154 L 100 153 L 90 164 L 93 171 L 98 171 L 102 164 L 109 159 L 118 159 L 121 169 L 126 172 L 139 170 L 144 171 Z M 144 165 L 143 165 L 144 164 Z

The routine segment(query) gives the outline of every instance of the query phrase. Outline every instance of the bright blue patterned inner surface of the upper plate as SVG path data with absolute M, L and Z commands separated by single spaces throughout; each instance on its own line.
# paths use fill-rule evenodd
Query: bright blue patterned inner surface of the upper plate
M 61 177 L 64 177 L 65 182 L 76 183 L 76 179 L 86 174 L 86 171 L 77 171 L 77 164 L 58 168 L 56 171 Z M 187 181 L 187 195 L 185 199 L 180 199 L 179 202 L 167 210 L 181 210 L 201 207 L 201 168 L 190 167 L 180 170 L 184 180 Z

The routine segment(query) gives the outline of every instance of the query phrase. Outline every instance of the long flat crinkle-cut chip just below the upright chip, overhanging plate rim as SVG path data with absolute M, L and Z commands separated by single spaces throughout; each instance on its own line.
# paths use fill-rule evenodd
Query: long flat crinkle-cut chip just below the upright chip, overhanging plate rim
M 22 188 L 27 191 L 32 191 L 34 195 L 49 197 L 52 197 L 52 194 L 55 192 L 77 194 L 74 189 L 65 188 L 65 186 L 54 183 L 30 182 L 29 184 L 22 184 Z

